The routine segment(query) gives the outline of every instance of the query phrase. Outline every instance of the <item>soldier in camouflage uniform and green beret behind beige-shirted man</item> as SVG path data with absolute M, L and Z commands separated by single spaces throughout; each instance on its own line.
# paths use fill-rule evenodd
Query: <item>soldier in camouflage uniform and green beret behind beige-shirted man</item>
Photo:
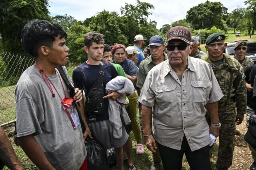
M 241 124 L 246 114 L 247 93 L 245 76 L 241 64 L 233 57 L 223 54 L 227 44 L 226 36 L 214 33 L 206 39 L 208 56 L 202 60 L 208 62 L 214 71 L 224 96 L 218 101 L 220 127 L 220 144 L 217 170 L 227 170 L 232 165 L 234 135 L 236 125 Z M 236 114 L 237 108 L 237 114 Z

